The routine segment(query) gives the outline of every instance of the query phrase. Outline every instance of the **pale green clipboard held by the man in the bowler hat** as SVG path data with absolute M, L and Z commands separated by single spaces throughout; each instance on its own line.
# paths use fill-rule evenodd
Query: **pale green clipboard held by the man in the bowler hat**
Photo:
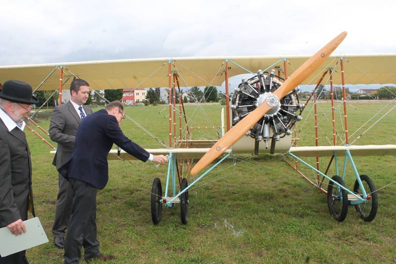
M 0 228 L 0 256 L 17 253 L 22 250 L 30 249 L 48 242 L 48 237 L 43 229 L 39 217 L 34 217 L 23 221 L 26 233 L 15 236 L 8 228 Z

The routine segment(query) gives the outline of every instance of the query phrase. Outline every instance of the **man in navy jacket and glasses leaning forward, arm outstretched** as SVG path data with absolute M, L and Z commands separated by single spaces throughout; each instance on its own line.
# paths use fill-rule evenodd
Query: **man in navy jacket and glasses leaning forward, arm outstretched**
M 99 252 L 96 227 L 96 194 L 108 181 L 107 154 L 113 144 L 142 161 L 165 164 L 163 155 L 153 156 L 128 139 L 119 123 L 124 119 L 124 107 L 114 101 L 85 117 L 78 128 L 71 159 L 59 172 L 70 182 L 73 190 L 73 209 L 66 234 L 64 263 L 79 263 L 81 246 L 85 261 L 108 261 L 114 256 Z M 67 171 L 67 173 L 65 173 Z

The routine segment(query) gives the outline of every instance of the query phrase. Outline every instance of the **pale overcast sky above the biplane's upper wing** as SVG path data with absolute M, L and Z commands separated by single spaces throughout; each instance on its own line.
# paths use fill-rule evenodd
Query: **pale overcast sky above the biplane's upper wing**
M 312 54 L 342 31 L 335 54 L 396 53 L 395 0 L 0 3 L 0 65 Z

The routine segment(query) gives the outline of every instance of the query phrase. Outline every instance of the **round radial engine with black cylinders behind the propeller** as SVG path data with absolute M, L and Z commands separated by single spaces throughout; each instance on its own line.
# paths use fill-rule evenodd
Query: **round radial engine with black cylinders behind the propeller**
M 276 142 L 291 135 L 296 121 L 302 119 L 300 113 L 304 104 L 299 103 L 298 87 L 280 101 L 276 96 L 271 96 L 284 81 L 283 78 L 275 75 L 274 69 L 270 72 L 258 70 L 257 75 L 249 79 L 243 78 L 232 96 L 232 125 L 236 125 L 266 100 L 277 101 L 271 102 L 275 106 L 246 133 L 255 139 L 256 155 L 259 143 L 265 144 L 265 149 L 270 147 L 270 153 L 273 154 Z

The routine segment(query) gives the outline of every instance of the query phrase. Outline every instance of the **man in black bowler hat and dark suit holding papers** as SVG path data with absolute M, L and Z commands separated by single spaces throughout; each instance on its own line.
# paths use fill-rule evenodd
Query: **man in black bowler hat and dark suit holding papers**
M 33 216 L 32 163 L 23 129 L 23 117 L 39 100 L 32 87 L 21 81 L 6 81 L 0 91 L 0 228 L 14 235 L 26 232 L 28 210 Z M 0 257 L 0 264 L 28 263 L 25 251 Z

